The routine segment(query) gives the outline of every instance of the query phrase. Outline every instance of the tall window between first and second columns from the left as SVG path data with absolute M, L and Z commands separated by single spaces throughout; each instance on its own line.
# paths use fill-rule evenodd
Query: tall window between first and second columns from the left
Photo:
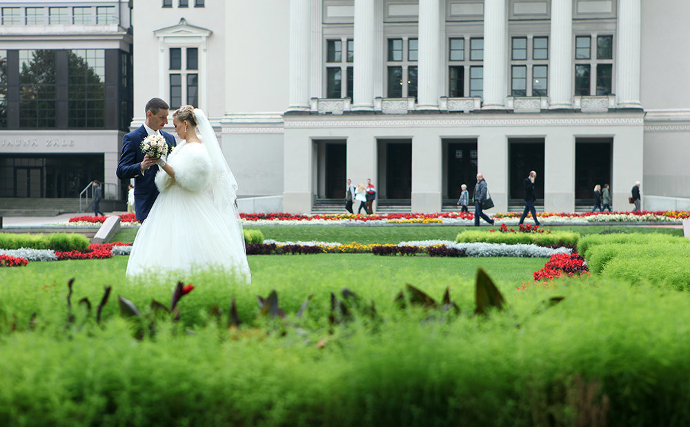
M 326 40 L 326 98 L 352 98 L 354 61 L 353 39 Z

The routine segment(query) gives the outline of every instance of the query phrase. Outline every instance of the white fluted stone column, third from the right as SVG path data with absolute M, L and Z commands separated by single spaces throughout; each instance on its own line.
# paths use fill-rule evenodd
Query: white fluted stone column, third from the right
M 506 107 L 506 2 L 484 1 L 484 107 L 504 110 Z

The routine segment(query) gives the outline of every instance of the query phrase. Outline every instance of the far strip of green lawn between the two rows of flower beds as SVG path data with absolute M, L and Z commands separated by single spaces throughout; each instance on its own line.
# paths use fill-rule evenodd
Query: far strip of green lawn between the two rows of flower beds
M 561 231 L 576 231 L 582 235 L 600 233 L 604 229 L 620 229 L 630 233 L 667 233 L 682 236 L 682 229 L 647 226 L 609 226 L 609 225 L 581 225 L 581 226 L 546 226 L 546 229 Z M 246 227 L 259 229 L 267 239 L 279 242 L 297 240 L 317 240 L 319 242 L 358 242 L 370 243 L 400 243 L 409 240 L 455 240 L 460 231 L 474 229 L 474 227 L 455 226 L 384 226 L 384 227 L 319 227 L 319 226 L 268 226 Z M 481 227 L 486 229 L 486 227 Z M 113 238 L 113 242 L 133 242 L 137 229 L 123 229 Z

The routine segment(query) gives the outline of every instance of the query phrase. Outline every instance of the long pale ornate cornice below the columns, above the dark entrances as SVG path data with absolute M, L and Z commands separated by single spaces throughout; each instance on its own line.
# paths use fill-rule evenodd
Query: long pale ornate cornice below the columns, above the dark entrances
M 286 120 L 286 128 L 302 127 L 486 127 L 486 126 L 642 126 L 642 117 L 606 118 L 411 118 L 397 120 Z

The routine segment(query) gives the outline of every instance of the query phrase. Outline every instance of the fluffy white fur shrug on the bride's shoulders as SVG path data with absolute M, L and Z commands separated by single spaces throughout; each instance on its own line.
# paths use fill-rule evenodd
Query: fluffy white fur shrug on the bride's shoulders
M 208 187 L 211 178 L 211 159 L 204 144 L 186 143 L 170 154 L 168 165 L 175 171 L 175 180 L 165 171 L 156 174 L 158 191 L 164 191 L 176 183 L 188 191 L 201 191 Z

